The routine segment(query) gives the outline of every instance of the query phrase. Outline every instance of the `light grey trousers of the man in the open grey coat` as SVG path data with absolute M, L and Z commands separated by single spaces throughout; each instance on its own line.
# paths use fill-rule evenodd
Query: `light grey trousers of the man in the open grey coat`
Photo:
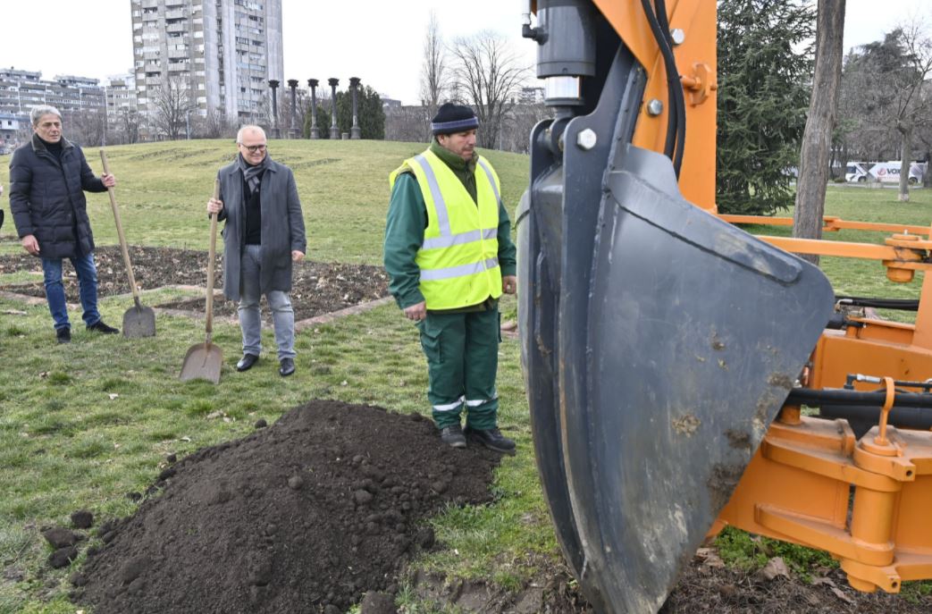
M 259 312 L 261 245 L 244 245 L 240 259 L 240 329 L 242 353 L 258 356 L 262 351 L 262 314 Z M 275 344 L 279 360 L 295 358 L 295 310 L 288 293 L 272 290 L 266 293 L 275 326 Z

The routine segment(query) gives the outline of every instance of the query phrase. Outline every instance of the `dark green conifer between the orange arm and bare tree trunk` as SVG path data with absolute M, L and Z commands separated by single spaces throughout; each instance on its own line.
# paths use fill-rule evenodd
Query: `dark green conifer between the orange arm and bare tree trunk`
M 719 2 L 720 212 L 769 214 L 793 204 L 815 17 L 802 0 Z

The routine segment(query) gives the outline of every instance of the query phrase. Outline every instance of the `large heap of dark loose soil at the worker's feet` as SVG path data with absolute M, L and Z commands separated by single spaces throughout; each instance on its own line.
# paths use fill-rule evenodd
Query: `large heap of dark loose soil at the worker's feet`
M 313 401 L 162 471 L 164 492 L 107 527 L 75 599 L 95 614 L 345 611 L 397 590 L 433 545 L 425 516 L 488 501 L 498 461 L 419 415 Z

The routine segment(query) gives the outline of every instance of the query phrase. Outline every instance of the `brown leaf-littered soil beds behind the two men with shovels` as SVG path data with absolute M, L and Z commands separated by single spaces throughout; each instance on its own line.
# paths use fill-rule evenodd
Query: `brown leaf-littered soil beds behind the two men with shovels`
M 129 251 L 133 275 L 143 290 L 168 285 L 205 287 L 207 284 L 207 252 L 139 246 L 130 246 Z M 130 292 L 119 247 L 98 248 L 94 252 L 94 259 L 97 263 L 99 295 Z M 214 266 L 214 287 L 217 289 L 222 287 L 222 267 L 223 258 L 218 255 Z M 24 270 L 41 274 L 42 264 L 38 258 L 27 253 L 0 256 L 0 274 Z M 388 277 L 379 266 L 304 261 L 295 265 L 292 284 L 295 320 L 306 320 L 388 295 Z M 68 301 L 77 302 L 77 278 L 67 260 L 64 263 L 64 286 Z M 30 296 L 45 296 L 41 279 L 10 284 L 0 289 Z M 156 307 L 203 312 L 204 299 L 177 301 Z M 236 315 L 236 303 L 226 299 L 215 300 L 213 309 L 217 317 Z M 268 316 L 267 309 L 264 309 L 264 313 Z

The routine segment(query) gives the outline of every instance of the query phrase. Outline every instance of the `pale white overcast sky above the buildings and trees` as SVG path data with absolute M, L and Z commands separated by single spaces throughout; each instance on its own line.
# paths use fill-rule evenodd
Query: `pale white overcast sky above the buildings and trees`
M 282 0 L 284 78 L 350 76 L 406 103 L 418 100 L 422 44 L 431 10 L 447 40 L 488 29 L 505 34 L 528 65 L 534 45 L 521 38 L 521 0 Z M 930 0 L 847 0 L 845 50 L 879 40 L 899 21 L 932 29 Z M 104 79 L 132 65 L 129 0 L 3 0 L 0 66 L 44 78 Z

